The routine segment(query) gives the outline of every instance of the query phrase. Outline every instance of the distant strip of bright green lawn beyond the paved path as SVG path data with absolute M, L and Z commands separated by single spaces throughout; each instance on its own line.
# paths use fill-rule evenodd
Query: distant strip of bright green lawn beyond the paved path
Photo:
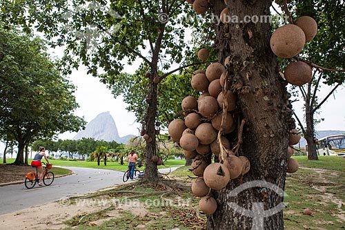
M 14 162 L 15 159 L 7 159 L 8 163 Z M 32 159 L 29 159 L 29 164 L 31 163 Z M 43 160 L 45 162 L 45 160 Z M 121 170 L 126 171 L 128 169 L 127 162 L 124 165 L 121 165 L 120 162 L 110 162 L 107 161 L 107 165 L 105 166 L 103 162 L 98 166 L 97 162 L 85 162 L 85 161 L 69 161 L 69 160 L 49 160 L 53 166 L 70 166 L 70 167 L 85 167 L 85 168 L 95 168 L 95 169 L 114 169 L 114 170 Z M 164 162 L 164 165 L 158 166 L 159 169 L 166 168 L 166 167 L 175 167 L 184 165 L 186 160 L 167 160 Z M 144 169 L 144 167 L 141 167 Z

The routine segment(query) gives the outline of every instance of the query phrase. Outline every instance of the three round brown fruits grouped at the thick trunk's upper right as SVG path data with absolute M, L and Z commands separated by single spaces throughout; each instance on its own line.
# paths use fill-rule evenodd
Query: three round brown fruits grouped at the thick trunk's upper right
M 295 57 L 316 33 L 317 23 L 312 17 L 299 17 L 294 24 L 287 24 L 275 30 L 270 38 L 270 48 L 278 57 Z M 311 81 L 311 66 L 304 61 L 291 62 L 284 70 L 284 77 L 288 83 L 302 86 Z

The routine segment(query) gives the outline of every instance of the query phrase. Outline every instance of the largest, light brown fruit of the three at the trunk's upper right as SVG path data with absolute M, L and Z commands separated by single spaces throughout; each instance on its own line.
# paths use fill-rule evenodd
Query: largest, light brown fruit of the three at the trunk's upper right
M 302 51 L 306 37 L 298 26 L 288 24 L 277 28 L 270 38 L 270 48 L 278 57 L 295 57 Z M 207 71 L 206 71 L 207 73 Z

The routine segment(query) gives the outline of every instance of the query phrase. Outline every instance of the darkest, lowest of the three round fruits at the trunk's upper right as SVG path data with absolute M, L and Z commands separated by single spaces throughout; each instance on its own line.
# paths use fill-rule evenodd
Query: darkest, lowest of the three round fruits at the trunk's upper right
M 311 66 L 304 61 L 291 62 L 284 70 L 286 82 L 295 86 L 302 86 L 311 82 L 312 70 Z

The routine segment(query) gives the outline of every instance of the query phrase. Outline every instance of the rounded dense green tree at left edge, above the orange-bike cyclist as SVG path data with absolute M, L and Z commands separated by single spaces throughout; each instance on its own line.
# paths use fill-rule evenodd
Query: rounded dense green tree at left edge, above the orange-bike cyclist
M 50 60 L 43 40 L 0 28 L 0 127 L 19 145 L 37 138 L 78 131 L 85 122 L 73 115 L 75 86 Z

